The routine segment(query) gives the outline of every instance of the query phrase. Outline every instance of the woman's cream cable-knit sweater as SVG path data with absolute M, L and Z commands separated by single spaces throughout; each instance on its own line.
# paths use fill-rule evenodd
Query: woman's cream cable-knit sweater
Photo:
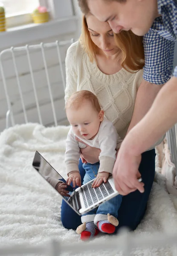
M 65 101 L 75 91 L 91 91 L 97 96 L 107 119 L 124 139 L 132 119 L 142 75 L 143 70 L 130 73 L 123 68 L 113 75 L 102 73 L 95 61 L 90 62 L 87 53 L 77 41 L 67 50 Z

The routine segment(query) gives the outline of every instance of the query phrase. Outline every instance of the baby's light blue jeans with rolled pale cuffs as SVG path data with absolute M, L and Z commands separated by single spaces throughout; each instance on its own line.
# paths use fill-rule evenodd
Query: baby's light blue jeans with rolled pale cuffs
M 83 184 L 93 180 L 99 171 L 99 162 L 98 163 L 84 163 L 83 168 L 85 169 L 85 176 Z M 94 221 L 97 224 L 98 221 L 107 220 L 107 213 L 113 215 L 117 218 L 118 210 L 122 202 L 122 195 L 117 195 L 109 201 L 100 204 L 99 207 L 92 209 L 90 212 L 87 212 L 82 215 L 82 223 L 87 221 Z

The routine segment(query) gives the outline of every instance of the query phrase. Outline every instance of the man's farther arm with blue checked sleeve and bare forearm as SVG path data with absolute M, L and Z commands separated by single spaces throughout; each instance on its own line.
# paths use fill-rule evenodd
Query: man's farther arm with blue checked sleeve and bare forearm
M 143 80 L 138 89 L 135 108 L 128 132 L 151 108 L 157 93 L 171 76 L 174 42 L 162 38 L 157 32 L 149 31 L 143 37 L 145 67 Z

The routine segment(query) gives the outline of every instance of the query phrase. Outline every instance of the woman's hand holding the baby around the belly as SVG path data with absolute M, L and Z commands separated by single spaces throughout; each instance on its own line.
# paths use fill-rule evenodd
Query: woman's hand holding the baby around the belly
M 79 140 L 77 137 L 75 137 L 75 140 L 77 140 L 78 142 L 84 143 L 83 141 Z M 82 163 L 93 164 L 93 163 L 99 162 L 99 154 L 101 150 L 99 148 L 90 147 L 86 143 L 84 144 L 86 145 L 86 148 L 80 149 Z

